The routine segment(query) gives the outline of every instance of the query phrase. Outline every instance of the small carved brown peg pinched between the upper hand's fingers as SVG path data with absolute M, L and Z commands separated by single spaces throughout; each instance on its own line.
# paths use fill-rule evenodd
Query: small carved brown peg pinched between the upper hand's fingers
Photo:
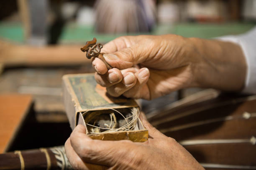
M 91 59 L 92 57 L 98 57 L 100 60 L 104 62 L 104 64 L 107 66 L 108 70 L 112 69 L 112 67 L 106 62 L 105 58 L 103 55 L 100 53 L 101 48 L 103 47 L 102 44 L 97 43 L 97 39 L 93 38 L 91 41 L 87 41 L 86 45 L 84 47 L 81 47 L 82 52 L 86 52 L 86 57 L 88 59 Z

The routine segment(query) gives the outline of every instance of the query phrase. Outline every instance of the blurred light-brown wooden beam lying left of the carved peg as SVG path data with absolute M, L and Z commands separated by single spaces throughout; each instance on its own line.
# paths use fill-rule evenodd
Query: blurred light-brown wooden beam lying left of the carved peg
M 91 61 L 84 58 L 78 45 L 33 47 L 15 45 L 0 40 L 0 63 L 5 67 L 83 65 Z

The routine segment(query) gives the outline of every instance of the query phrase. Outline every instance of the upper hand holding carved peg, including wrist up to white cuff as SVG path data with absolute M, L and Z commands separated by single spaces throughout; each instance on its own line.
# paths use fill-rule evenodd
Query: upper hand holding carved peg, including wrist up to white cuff
M 246 62 L 231 42 L 179 35 L 119 37 L 102 48 L 105 60 L 94 58 L 96 81 L 112 96 L 153 99 L 185 87 L 241 90 Z

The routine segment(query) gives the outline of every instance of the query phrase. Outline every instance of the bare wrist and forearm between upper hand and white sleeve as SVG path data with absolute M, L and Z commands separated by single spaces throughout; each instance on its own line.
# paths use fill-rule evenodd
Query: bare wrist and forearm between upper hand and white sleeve
M 225 91 L 242 90 L 246 60 L 239 45 L 232 42 L 189 38 L 194 50 L 195 82 L 199 87 Z

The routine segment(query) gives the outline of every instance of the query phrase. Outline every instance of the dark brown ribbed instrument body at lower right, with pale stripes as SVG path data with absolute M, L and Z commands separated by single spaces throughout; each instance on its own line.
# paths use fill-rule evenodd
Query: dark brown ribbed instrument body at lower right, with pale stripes
M 206 169 L 256 169 L 256 95 L 221 94 L 161 110 L 149 121 Z

